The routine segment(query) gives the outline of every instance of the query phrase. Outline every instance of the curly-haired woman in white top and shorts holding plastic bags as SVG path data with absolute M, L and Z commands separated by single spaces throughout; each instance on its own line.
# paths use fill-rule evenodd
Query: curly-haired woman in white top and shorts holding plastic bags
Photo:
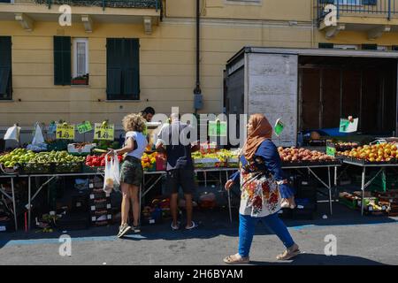
M 133 203 L 133 230 L 134 233 L 140 232 L 140 200 L 139 189 L 142 184 L 142 164 L 141 158 L 148 145 L 147 138 L 142 131 L 145 128 L 145 119 L 139 114 L 129 114 L 122 121 L 126 131 L 126 141 L 122 149 L 115 150 L 115 154 L 125 154 L 126 157 L 120 168 L 120 187 L 123 194 L 121 203 L 121 225 L 118 237 L 123 237 L 131 226 L 128 222 L 128 212 L 130 210 L 130 200 Z

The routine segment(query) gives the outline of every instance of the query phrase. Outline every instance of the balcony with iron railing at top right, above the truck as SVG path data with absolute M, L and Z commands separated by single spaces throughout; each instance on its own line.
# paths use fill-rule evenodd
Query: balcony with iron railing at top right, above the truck
M 330 38 L 341 30 L 365 31 L 369 39 L 398 31 L 398 0 L 317 0 L 318 28 Z

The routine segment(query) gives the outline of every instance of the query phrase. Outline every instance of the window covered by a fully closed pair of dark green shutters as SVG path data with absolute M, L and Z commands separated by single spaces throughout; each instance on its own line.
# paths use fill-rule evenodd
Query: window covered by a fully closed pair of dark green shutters
M 108 100 L 140 99 L 140 44 L 134 38 L 106 40 L 106 95 Z

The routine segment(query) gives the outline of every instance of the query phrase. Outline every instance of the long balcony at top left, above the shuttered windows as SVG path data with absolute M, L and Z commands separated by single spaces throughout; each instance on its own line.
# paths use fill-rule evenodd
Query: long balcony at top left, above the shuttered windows
M 165 0 L 0 0 L 0 20 L 16 20 L 27 31 L 36 21 L 58 22 L 61 5 L 71 7 L 71 21 L 84 24 L 87 32 L 93 23 L 142 23 L 145 33 L 162 20 Z

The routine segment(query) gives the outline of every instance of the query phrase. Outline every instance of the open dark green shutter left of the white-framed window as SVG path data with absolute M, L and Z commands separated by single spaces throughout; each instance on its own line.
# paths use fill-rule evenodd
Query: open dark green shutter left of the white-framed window
M 70 85 L 71 72 L 71 37 L 54 36 L 54 85 Z

